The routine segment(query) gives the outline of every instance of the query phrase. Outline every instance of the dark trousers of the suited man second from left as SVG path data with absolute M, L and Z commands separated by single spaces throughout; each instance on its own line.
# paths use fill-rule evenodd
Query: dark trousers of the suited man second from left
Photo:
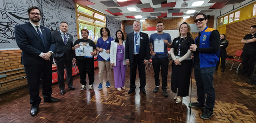
M 60 90 L 65 89 L 64 83 L 64 68 L 66 67 L 66 82 L 67 86 L 73 86 L 73 77 L 72 77 L 72 60 L 68 61 L 66 55 L 63 56 L 60 60 L 56 60 L 57 72 L 58 72 L 58 87 Z

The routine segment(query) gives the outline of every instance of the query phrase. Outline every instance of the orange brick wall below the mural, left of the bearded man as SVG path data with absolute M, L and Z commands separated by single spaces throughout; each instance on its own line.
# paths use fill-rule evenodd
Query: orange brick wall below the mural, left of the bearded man
M 20 64 L 21 50 L 1 50 L 0 51 L 0 75 L 6 74 L 6 77 L 0 78 L 0 94 L 15 90 L 27 85 L 27 79 L 19 79 L 25 76 L 24 66 Z M 19 69 L 19 70 L 15 70 Z M 10 71 L 14 70 L 14 71 Z M 9 72 L 5 72 L 9 71 Z M 17 80 L 15 80 L 17 79 Z

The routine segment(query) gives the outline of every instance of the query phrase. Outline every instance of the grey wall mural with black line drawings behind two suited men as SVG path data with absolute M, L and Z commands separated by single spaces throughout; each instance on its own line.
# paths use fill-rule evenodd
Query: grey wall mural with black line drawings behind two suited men
M 2 3 L 2 4 L 1 4 Z M 73 0 L 0 0 L 0 50 L 16 48 L 14 27 L 27 23 L 27 8 L 41 8 L 41 23 L 52 32 L 59 31 L 61 21 L 68 23 L 68 32 L 77 39 Z

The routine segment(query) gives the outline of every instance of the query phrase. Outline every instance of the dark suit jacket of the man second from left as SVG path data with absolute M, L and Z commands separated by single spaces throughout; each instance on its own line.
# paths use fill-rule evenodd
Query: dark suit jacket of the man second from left
M 65 45 L 60 31 L 51 33 L 53 40 L 55 41 L 56 48 L 53 54 L 54 59 L 62 60 L 64 54 L 66 54 L 66 59 L 71 61 L 73 59 L 73 36 L 66 33 L 67 43 Z

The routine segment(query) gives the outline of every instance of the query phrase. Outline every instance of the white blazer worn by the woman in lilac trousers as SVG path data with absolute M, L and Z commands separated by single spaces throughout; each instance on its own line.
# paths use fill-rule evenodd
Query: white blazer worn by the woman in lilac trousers
M 123 46 L 125 51 L 125 41 L 123 41 Z M 114 40 L 114 41 L 111 41 L 111 45 L 110 45 L 110 63 L 114 63 L 114 66 L 116 66 L 116 52 L 117 52 L 117 42 L 115 42 Z M 125 56 L 125 52 L 124 52 L 124 56 Z M 124 65 L 127 65 L 125 59 L 124 59 Z

